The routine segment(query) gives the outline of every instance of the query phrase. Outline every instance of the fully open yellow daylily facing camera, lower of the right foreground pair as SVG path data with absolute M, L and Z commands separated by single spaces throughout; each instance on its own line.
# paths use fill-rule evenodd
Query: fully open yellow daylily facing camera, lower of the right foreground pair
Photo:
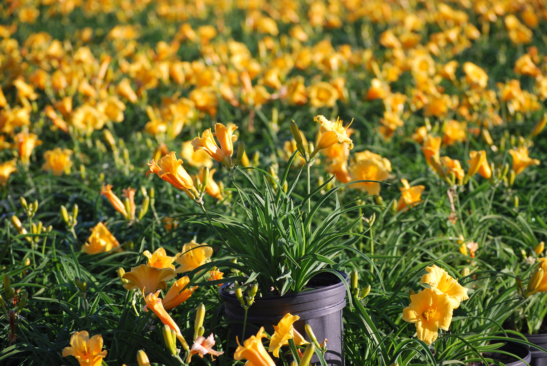
M 450 297 L 434 288 L 410 295 L 410 306 L 403 309 L 403 320 L 414 323 L 419 340 L 432 344 L 439 328 L 448 330 L 452 321 Z

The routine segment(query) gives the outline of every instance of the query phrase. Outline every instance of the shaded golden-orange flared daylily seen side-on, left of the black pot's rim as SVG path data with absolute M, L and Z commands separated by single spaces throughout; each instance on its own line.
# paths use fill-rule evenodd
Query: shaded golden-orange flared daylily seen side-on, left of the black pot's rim
M 167 281 L 173 278 L 172 268 L 155 268 L 146 264 L 131 268 L 130 272 L 125 272 L 122 278 L 128 282 L 124 288 L 132 290 L 138 288 L 144 294 L 155 292 L 157 289 L 167 289 Z

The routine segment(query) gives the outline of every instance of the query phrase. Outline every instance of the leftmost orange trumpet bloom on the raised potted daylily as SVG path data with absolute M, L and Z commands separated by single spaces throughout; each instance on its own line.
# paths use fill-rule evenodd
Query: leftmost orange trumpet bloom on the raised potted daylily
M 158 177 L 173 185 L 174 188 L 185 191 L 192 199 L 197 197 L 192 178 L 182 167 L 182 159 L 177 159 L 174 152 L 165 155 L 158 162 L 152 159 L 152 162 L 147 164 L 150 167 L 150 170 L 146 172 L 147 177 L 150 173 L 155 173 Z

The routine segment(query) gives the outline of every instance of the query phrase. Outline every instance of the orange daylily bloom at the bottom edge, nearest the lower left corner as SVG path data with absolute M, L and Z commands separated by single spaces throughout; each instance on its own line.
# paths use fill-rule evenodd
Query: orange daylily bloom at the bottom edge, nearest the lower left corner
M 89 338 L 86 330 L 74 332 L 70 338 L 70 347 L 63 348 L 63 357 L 74 356 L 80 366 L 99 366 L 106 357 L 107 351 L 102 351 L 102 335 L 95 334 Z

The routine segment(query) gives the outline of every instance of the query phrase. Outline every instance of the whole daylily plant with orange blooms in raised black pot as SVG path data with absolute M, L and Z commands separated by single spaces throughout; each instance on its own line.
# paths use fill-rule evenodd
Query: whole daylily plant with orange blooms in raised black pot
M 333 122 L 323 115 L 314 119 L 320 124 L 315 146 L 307 144 L 296 123 L 291 123 L 296 148 L 279 176 L 258 167 L 238 166 L 245 145 L 239 142 L 232 157 L 235 125 L 218 123 L 215 133 L 207 129 L 194 138 L 195 151 L 204 150 L 230 172 L 231 205 L 227 213 L 203 201 L 207 170 L 194 182 L 183 169 L 182 160 L 171 153 L 149 163 L 149 172 L 184 190 L 201 208 L 200 213 L 185 216 L 190 216 L 188 222 L 211 229 L 215 237 L 211 246 L 218 248 L 222 257 L 196 270 L 232 268 L 235 276 L 220 288 L 220 294 L 228 317 L 240 322 L 235 333 L 244 339 L 251 329 L 261 326 L 271 332 L 272 326 L 292 313 L 300 317 L 294 329 L 305 334 L 305 324 L 311 325 L 317 339 L 328 339 L 327 362 L 340 365 L 344 363 L 341 311 L 348 276 L 329 266 L 345 250 L 369 260 L 355 246 L 363 239 L 356 228 L 362 220 L 357 213 L 365 206 L 357 203 L 360 197 L 344 203 L 337 197 L 342 187 L 356 182 L 332 187 L 333 176 L 311 187 L 310 170 L 320 150 L 353 147 L 341 120 Z

